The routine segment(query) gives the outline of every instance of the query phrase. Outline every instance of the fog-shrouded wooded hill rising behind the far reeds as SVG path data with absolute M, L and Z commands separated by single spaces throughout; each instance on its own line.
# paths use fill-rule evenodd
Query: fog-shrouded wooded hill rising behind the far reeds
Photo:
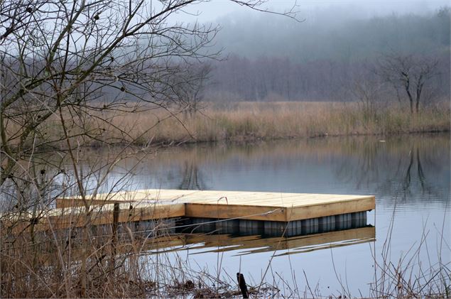
M 390 55 L 436 61 L 428 100 L 449 97 L 450 9 L 440 1 L 412 3 L 409 10 L 395 1 L 404 8 L 398 11 L 358 9 L 352 1 L 304 12 L 300 6 L 303 21 L 264 13 L 222 16 L 212 50 L 222 49 L 227 60 L 212 62 L 207 98 L 347 101 L 357 80 L 383 83 L 377 67 Z

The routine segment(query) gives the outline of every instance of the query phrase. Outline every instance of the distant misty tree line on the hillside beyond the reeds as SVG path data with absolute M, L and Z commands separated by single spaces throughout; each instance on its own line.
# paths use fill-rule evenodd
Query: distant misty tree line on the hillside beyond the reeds
M 236 52 L 213 64 L 205 99 L 351 101 L 357 99 L 356 84 L 362 87 L 362 80 L 373 89 L 384 85 L 385 97 L 410 101 L 412 111 L 450 97 L 448 8 L 428 16 L 342 20 L 330 28 L 322 18 L 313 24 L 281 22 L 254 20 L 249 27 L 259 30 L 254 35 L 236 31 L 234 40 L 228 31 L 240 21 L 224 29 L 219 45 Z

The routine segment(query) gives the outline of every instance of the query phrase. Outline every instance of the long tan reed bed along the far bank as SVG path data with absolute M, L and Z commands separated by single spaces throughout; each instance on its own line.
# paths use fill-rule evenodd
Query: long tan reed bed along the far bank
M 135 104 L 133 105 L 135 106 Z M 97 110 L 84 119 L 70 119 L 74 144 L 104 146 L 211 141 L 258 141 L 322 136 L 396 135 L 450 131 L 450 106 L 441 102 L 411 114 L 405 105 L 363 107 L 357 102 L 239 102 L 205 104 L 196 113 L 177 108 L 141 106 L 138 112 Z M 21 128 L 9 124 L 10 136 Z M 29 141 L 65 146 L 58 117 L 51 117 Z M 15 144 L 11 141 L 11 145 Z

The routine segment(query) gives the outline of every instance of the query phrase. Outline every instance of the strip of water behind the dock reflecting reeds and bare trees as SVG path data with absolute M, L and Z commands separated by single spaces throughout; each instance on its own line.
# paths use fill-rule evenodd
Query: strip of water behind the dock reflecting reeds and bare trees
M 370 192 L 398 202 L 447 202 L 450 193 L 447 134 L 187 146 L 143 163 L 148 187 Z

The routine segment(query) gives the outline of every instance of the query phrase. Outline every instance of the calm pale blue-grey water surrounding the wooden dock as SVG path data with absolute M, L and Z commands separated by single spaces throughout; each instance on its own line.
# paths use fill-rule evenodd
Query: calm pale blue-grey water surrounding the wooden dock
M 330 246 L 325 239 L 317 246 L 265 250 L 261 242 L 249 239 L 246 249 L 229 248 L 221 253 L 215 252 L 221 251 L 221 247 L 206 248 L 200 241 L 197 246 L 176 251 L 192 267 L 208 268 L 210 273 L 221 268 L 222 273 L 234 276 L 241 267 L 249 283 L 258 283 L 270 264 L 266 279 L 277 284 L 285 295 L 290 295 L 289 289 L 296 287 L 303 295 L 307 289 L 305 276 L 313 292 L 316 288 L 323 295 L 341 293 L 343 287 L 354 295 L 368 294 L 369 283 L 374 281 L 373 256 L 381 262 L 389 232 L 391 243 L 387 254 L 395 264 L 403 257 L 407 261 L 412 256 L 415 263 L 421 261 L 423 270 L 435 265 L 438 256 L 443 263 L 450 262 L 448 134 L 384 140 L 380 137 L 320 138 L 233 146 L 183 146 L 121 162 L 109 177 L 109 185 L 131 169 L 134 176 L 126 181 L 131 190 L 174 188 L 375 195 L 376 210 L 368 214 L 368 223 L 376 227 L 376 241 L 344 240 L 340 244 L 346 246 Z M 415 251 L 422 239 L 423 246 Z M 411 269 L 418 274 L 418 266 Z M 288 286 L 284 286 L 280 277 Z

